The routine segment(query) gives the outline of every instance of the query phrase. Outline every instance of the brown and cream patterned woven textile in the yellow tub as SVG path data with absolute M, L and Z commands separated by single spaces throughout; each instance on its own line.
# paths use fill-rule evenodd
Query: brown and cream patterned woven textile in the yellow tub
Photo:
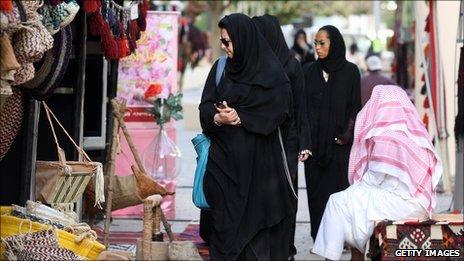
M 72 251 L 60 248 L 52 230 L 9 236 L 3 244 L 10 260 L 82 260 Z

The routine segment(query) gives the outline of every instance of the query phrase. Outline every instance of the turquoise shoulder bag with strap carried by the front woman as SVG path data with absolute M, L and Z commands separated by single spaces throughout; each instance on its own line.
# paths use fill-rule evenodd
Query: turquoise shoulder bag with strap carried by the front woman
M 226 62 L 227 57 L 219 57 L 218 65 L 216 68 L 216 87 L 221 82 Z M 201 133 L 192 139 L 192 143 L 198 155 L 197 168 L 195 169 L 195 178 L 193 180 L 192 201 L 193 204 L 195 204 L 195 206 L 200 209 L 210 209 L 210 206 L 206 201 L 205 192 L 203 191 L 203 180 L 205 177 L 206 165 L 208 163 L 208 154 L 211 141 L 205 134 Z

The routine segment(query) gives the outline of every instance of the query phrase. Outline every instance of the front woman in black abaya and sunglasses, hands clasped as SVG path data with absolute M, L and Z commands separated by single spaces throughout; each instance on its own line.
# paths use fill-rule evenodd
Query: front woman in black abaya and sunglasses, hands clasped
M 289 80 L 251 18 L 228 15 L 219 27 L 225 73 L 216 86 L 213 65 L 199 107 L 211 139 L 204 180 L 211 258 L 284 260 L 296 208 L 278 136 L 293 113 Z

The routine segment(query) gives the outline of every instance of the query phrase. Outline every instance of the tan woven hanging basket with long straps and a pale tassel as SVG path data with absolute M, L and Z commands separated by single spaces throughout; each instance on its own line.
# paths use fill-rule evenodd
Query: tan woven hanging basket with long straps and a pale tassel
M 80 148 L 45 102 L 41 102 L 45 110 L 58 153 L 58 161 L 36 162 L 36 199 L 46 203 L 75 203 L 84 192 L 90 179 L 95 175 L 95 204 L 104 202 L 103 167 L 100 162 L 93 162 L 85 151 Z M 66 161 L 64 150 L 60 147 L 53 127 L 53 119 L 61 127 L 76 150 L 82 156 L 82 161 Z

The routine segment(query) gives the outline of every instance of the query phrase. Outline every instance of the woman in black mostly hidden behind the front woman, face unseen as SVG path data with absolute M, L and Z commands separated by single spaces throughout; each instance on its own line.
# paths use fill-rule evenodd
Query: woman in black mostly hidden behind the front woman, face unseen
M 280 63 L 284 67 L 285 73 L 290 79 L 290 86 L 293 96 L 293 121 L 289 125 L 282 126 L 282 133 L 285 138 L 285 150 L 287 152 L 287 161 L 290 174 L 292 176 L 293 187 L 298 192 L 298 159 L 301 161 L 306 160 L 310 153 L 309 144 L 309 126 L 306 118 L 299 117 L 300 114 L 305 114 L 305 106 L 302 105 L 300 97 L 304 94 L 304 76 L 301 69 L 300 62 L 293 57 L 285 42 L 282 29 L 280 28 L 279 20 L 272 15 L 263 15 L 253 17 L 253 21 L 258 26 L 261 34 L 266 39 L 271 49 L 276 54 Z M 303 100 L 304 101 L 304 100 Z M 305 104 L 305 103 L 304 103 Z M 300 121 L 297 121 L 300 119 Z M 300 152 L 300 153 L 299 153 Z M 291 239 L 290 257 L 296 254 L 296 247 L 294 246 L 295 238 L 295 221 L 296 212 L 291 224 Z

